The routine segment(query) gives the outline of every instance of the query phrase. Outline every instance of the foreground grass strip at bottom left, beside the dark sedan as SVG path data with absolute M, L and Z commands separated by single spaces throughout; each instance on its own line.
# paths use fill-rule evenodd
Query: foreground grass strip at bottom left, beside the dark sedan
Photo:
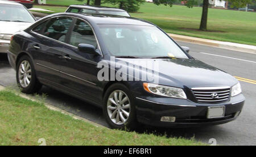
M 0 145 L 206 145 L 194 139 L 167 138 L 96 127 L 43 104 L 0 91 Z

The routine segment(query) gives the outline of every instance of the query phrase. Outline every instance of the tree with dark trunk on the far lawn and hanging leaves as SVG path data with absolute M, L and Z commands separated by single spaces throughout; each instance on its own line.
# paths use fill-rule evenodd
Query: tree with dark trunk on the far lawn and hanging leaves
M 172 7 L 174 2 L 176 0 L 153 0 L 156 5 L 169 5 Z M 229 2 L 232 2 L 232 6 L 235 7 L 245 7 L 248 3 L 250 3 L 252 0 L 228 0 Z M 187 3 L 185 4 L 187 7 L 192 8 L 194 5 L 197 5 L 196 0 L 187 0 Z M 201 23 L 199 30 L 206 31 L 207 30 L 207 19 L 208 19 L 208 7 L 209 7 L 209 0 L 203 1 L 203 10 L 202 10 L 202 16 L 201 16 Z

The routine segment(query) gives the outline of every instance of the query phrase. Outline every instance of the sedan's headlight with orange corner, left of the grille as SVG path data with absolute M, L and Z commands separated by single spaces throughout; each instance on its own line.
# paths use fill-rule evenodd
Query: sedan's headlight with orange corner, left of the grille
M 185 92 L 181 88 L 150 84 L 150 83 L 143 83 L 143 87 L 147 92 L 150 92 L 159 96 L 187 99 Z

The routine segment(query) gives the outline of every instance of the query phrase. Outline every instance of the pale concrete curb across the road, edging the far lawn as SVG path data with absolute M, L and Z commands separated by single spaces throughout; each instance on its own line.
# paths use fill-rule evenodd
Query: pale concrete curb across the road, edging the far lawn
M 221 42 L 221 41 L 217 41 L 217 40 L 195 38 L 195 37 L 184 36 L 184 35 L 176 35 L 176 34 L 168 34 L 168 35 L 170 35 L 171 38 L 173 38 L 174 40 L 177 40 L 180 42 L 200 44 L 200 45 L 204 45 L 204 46 L 218 47 L 218 48 L 223 48 L 223 49 L 230 49 L 233 51 L 240 51 L 240 52 L 256 54 L 256 46 L 231 43 L 231 42 Z

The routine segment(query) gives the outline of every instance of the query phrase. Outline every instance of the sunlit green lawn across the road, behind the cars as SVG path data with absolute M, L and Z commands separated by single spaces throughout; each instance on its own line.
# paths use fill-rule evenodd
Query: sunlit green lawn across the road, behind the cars
M 72 5 L 83 2 L 75 0 L 48 0 L 48 4 Z M 105 6 L 111 6 L 104 4 Z M 56 12 L 63 12 L 66 7 L 35 6 Z M 164 31 L 205 39 L 221 40 L 226 42 L 250 44 L 256 46 L 256 13 L 209 9 L 208 30 L 197 31 L 201 20 L 201 7 L 189 9 L 185 6 L 168 7 L 144 3 L 138 13 L 131 13 L 136 18 L 143 18 L 163 28 Z M 187 28 L 192 28 L 187 29 Z

